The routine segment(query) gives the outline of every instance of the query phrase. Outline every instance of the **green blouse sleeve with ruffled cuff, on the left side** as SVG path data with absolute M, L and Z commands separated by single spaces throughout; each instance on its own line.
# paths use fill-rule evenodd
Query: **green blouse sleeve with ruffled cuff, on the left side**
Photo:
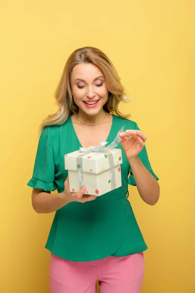
M 33 176 L 27 185 L 33 188 L 44 189 L 45 191 L 56 190 L 55 163 L 50 126 L 45 126 L 41 132 Z

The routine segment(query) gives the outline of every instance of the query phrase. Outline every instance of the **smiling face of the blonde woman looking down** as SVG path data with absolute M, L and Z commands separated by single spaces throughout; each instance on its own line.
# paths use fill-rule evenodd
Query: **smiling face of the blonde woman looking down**
M 92 63 L 77 64 L 71 73 L 71 89 L 79 111 L 97 115 L 108 100 L 108 89 L 102 71 Z

